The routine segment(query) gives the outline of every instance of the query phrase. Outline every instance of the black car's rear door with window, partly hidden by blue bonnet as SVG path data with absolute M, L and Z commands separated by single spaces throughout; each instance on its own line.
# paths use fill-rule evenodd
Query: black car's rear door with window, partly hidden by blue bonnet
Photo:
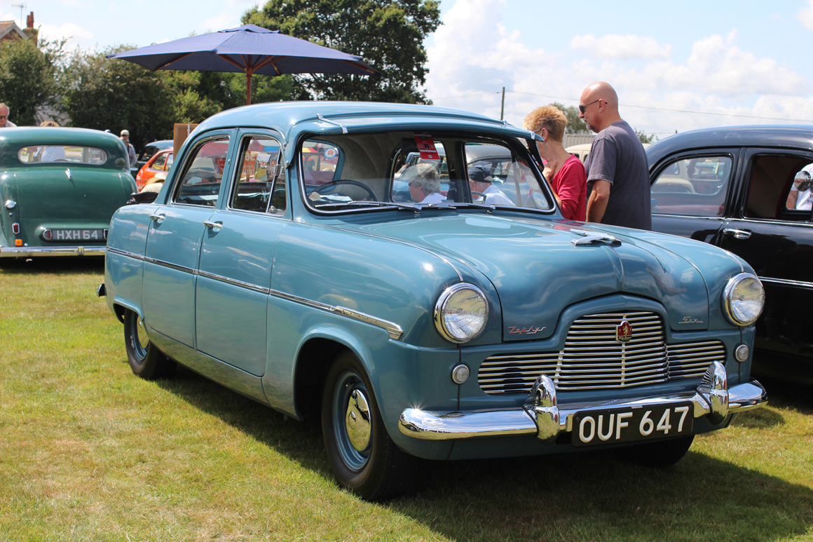
M 733 199 L 739 153 L 734 148 L 687 151 L 655 164 L 652 229 L 714 243 Z

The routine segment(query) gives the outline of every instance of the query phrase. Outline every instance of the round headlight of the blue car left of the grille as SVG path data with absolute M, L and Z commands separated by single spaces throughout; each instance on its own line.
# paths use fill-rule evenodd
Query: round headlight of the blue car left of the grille
M 480 288 L 456 284 L 446 288 L 435 304 L 435 327 L 452 343 L 466 343 L 485 329 L 489 303 Z

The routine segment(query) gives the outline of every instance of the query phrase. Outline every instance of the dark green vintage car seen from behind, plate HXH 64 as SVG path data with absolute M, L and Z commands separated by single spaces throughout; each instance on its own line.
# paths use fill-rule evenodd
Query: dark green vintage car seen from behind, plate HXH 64
M 136 191 L 124 143 L 80 128 L 0 132 L 0 258 L 102 255 Z

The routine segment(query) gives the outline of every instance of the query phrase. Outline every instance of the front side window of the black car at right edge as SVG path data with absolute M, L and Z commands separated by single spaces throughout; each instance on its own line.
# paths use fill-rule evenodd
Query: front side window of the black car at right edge
M 747 177 L 749 186 L 746 216 L 789 221 L 808 220 L 810 208 L 798 209 L 789 196 L 797 173 L 809 164 L 811 159 L 804 156 L 754 156 Z

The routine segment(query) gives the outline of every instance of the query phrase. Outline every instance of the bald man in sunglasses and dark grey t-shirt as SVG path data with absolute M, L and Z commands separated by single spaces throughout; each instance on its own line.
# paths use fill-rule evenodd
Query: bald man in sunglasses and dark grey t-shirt
M 618 95 L 605 82 L 581 93 L 579 118 L 598 133 L 585 161 L 587 221 L 652 229 L 650 173 L 641 139 L 618 114 Z

